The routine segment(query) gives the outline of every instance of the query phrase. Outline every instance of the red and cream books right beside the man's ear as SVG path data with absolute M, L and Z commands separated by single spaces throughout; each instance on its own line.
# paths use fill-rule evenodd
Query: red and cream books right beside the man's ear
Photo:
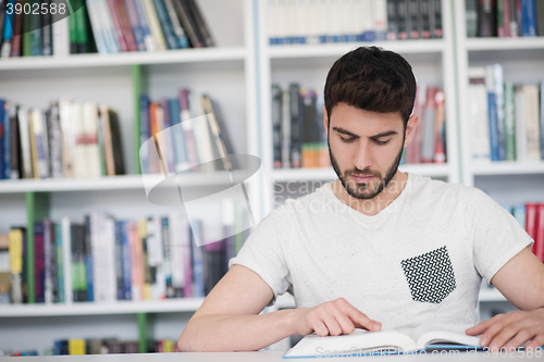
M 419 116 L 416 134 L 405 149 L 401 164 L 446 162 L 445 93 L 442 89 L 420 84 L 413 112 Z

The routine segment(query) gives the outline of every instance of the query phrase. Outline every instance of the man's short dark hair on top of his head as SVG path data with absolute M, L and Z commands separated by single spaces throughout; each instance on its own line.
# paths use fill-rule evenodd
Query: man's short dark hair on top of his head
M 344 54 L 326 75 L 324 101 L 379 113 L 400 112 L 405 126 L 416 100 L 416 78 L 399 54 L 378 47 L 360 47 Z

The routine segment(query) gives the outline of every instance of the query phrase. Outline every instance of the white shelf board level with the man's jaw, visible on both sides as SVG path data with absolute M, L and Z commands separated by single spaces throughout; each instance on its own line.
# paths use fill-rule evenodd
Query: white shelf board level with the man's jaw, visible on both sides
M 401 164 L 401 172 L 420 174 L 430 177 L 447 177 L 447 164 Z M 333 180 L 336 174 L 333 168 L 276 168 L 272 171 L 274 183 L 305 182 L 305 180 Z

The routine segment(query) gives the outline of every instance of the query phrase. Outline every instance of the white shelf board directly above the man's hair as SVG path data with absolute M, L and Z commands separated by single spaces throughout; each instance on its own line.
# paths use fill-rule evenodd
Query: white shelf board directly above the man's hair
M 440 53 L 444 50 L 443 39 L 391 40 L 378 42 L 332 42 L 320 45 L 282 45 L 269 46 L 271 59 L 341 57 L 351 49 L 366 46 L 378 46 L 403 54 Z

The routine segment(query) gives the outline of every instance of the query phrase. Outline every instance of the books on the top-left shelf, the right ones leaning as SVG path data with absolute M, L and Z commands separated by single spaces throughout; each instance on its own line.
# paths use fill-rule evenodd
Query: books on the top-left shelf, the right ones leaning
M 41 5 L 41 11 L 28 13 L 26 4 Z M 0 0 L 2 9 L 15 9 L 0 16 L 1 57 L 214 46 L 196 0 L 87 0 L 74 3 L 70 15 L 62 5 L 50 0 Z

